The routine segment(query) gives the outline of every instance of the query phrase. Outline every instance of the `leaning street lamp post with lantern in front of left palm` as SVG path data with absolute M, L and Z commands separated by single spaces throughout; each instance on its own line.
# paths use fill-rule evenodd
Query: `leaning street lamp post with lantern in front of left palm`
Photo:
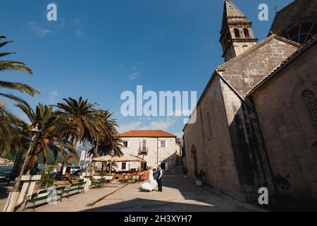
M 36 140 L 37 136 L 39 135 L 41 131 L 39 131 L 38 125 L 34 126 L 32 129 L 30 129 L 30 145 L 29 149 L 27 150 L 27 155 L 25 156 L 25 160 L 23 162 L 22 169 L 20 171 L 19 177 L 15 185 L 13 186 L 13 191 L 8 196 L 8 201 L 6 203 L 6 206 L 4 207 L 4 212 L 14 212 L 15 205 L 18 201 L 18 197 L 20 194 L 20 185 L 21 185 L 21 179 L 23 177 L 23 173 L 25 170 L 25 167 L 27 165 L 27 162 L 30 160 L 30 152 L 32 150 L 32 145 L 34 141 Z

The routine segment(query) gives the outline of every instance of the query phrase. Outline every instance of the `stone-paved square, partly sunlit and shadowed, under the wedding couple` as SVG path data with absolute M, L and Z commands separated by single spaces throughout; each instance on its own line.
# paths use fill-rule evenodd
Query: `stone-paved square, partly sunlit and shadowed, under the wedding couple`
M 211 189 L 195 186 L 194 182 L 179 176 L 163 179 L 163 192 L 142 192 L 141 183 L 107 184 L 91 189 L 85 194 L 63 198 L 56 205 L 44 205 L 37 212 L 218 212 L 218 211 L 263 211 L 246 203 L 217 194 Z M 32 205 L 30 205 L 32 207 Z M 19 209 L 18 211 L 22 211 Z M 32 211 L 31 208 L 25 210 Z

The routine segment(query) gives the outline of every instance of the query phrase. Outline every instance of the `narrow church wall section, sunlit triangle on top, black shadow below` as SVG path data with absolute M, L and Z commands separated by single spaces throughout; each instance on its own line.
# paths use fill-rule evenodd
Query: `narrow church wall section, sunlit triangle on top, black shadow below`
M 256 202 L 260 187 L 273 188 L 265 145 L 253 106 L 221 83 L 237 175 L 242 193 Z

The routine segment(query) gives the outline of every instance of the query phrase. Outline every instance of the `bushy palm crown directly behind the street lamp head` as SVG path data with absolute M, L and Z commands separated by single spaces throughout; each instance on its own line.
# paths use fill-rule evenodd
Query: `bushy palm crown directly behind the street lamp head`
M 22 122 L 20 126 L 21 132 L 17 143 L 25 145 L 24 150 L 27 149 L 26 146 L 30 143 L 28 139 L 30 128 L 37 125 L 41 131 L 36 140 L 33 141 L 30 161 L 27 162 L 24 173 L 37 162 L 37 157 L 40 153 L 44 155 L 44 164 L 46 164 L 50 152 L 54 154 L 55 159 L 58 153 L 65 159 L 67 159 L 70 154 L 78 158 L 75 149 L 73 149 L 73 146 L 67 139 L 70 134 L 76 133 L 76 127 L 58 117 L 60 112 L 54 111 L 52 106 L 42 104 L 37 105 L 35 111 L 33 111 L 29 105 L 18 104 L 16 106 L 22 109 L 27 118 L 31 121 L 31 124 Z

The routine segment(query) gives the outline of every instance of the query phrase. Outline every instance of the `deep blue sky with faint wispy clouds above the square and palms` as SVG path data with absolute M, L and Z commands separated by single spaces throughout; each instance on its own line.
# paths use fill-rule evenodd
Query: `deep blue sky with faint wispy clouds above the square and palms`
M 58 6 L 58 21 L 46 20 L 46 6 Z M 291 0 L 232 1 L 254 22 L 263 40 L 278 9 Z M 259 4 L 268 4 L 269 20 L 258 19 Z M 222 0 L 1 0 L 0 35 L 13 44 L 34 71 L 1 73 L 1 80 L 28 83 L 42 95 L 25 100 L 54 104 L 63 97 L 85 97 L 116 112 L 119 131 L 163 129 L 182 136 L 180 117 L 123 117 L 120 95 L 144 91 L 202 93 L 211 73 L 223 64 L 219 40 Z M 20 117 L 17 110 L 13 112 Z

